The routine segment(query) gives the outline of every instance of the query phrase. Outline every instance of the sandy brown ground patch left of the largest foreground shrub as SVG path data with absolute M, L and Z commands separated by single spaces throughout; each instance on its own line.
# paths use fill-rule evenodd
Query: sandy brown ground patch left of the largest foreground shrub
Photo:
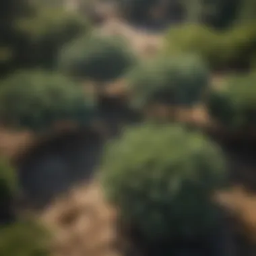
M 53 231 L 53 255 L 117 256 L 116 212 L 96 183 L 77 187 L 41 214 Z

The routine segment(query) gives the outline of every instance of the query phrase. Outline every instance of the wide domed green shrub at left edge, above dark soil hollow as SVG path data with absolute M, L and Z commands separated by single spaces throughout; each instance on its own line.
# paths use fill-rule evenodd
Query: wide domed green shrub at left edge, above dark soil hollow
M 21 71 L 0 85 L 0 117 L 6 125 L 46 129 L 55 121 L 88 123 L 91 99 L 69 79 L 42 71 Z

